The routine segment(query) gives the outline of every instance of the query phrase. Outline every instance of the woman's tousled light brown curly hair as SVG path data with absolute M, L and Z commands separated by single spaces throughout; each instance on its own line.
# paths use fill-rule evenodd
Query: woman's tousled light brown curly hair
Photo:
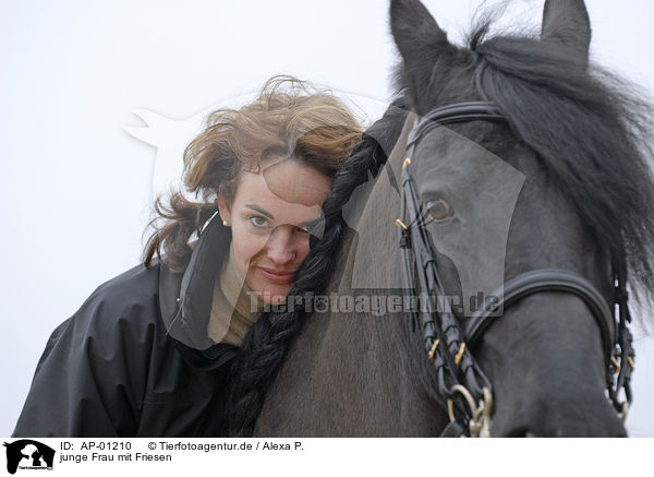
M 317 91 L 290 76 L 274 76 L 259 96 L 240 109 L 218 109 L 205 130 L 184 151 L 182 191 L 168 204 L 155 201 L 154 228 L 143 255 L 149 266 L 156 254 L 173 271 L 183 271 L 191 254 L 190 240 L 217 211 L 216 199 L 234 198 L 242 170 L 256 171 L 262 159 L 276 154 L 294 157 L 326 176 L 344 165 L 361 139 L 352 112 L 328 91 Z

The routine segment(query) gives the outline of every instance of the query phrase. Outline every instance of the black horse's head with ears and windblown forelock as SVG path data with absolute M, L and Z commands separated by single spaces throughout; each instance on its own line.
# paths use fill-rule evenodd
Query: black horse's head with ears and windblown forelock
M 607 303 L 616 267 L 652 289 L 654 189 L 634 134 L 645 105 L 589 69 L 582 0 L 546 1 L 534 38 L 489 38 L 485 25 L 460 48 L 417 0 L 391 2 L 391 29 L 399 87 L 419 118 L 482 100 L 506 118 L 427 129 L 409 166 L 460 321 L 536 270 L 582 276 Z M 401 162 L 389 165 L 399 180 Z M 472 349 L 494 387 L 493 434 L 623 436 L 605 395 L 605 341 L 576 294 L 547 289 L 507 307 Z

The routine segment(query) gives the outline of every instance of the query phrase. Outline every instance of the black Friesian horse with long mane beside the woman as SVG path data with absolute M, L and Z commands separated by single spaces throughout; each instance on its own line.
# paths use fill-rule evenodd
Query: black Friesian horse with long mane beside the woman
M 448 424 L 436 367 L 402 302 L 396 219 L 409 110 L 484 102 L 504 118 L 429 128 L 408 169 L 461 323 L 480 294 L 543 269 L 585 277 L 608 303 L 622 271 L 632 295 L 651 301 L 651 108 L 589 63 L 583 1 L 547 0 L 538 37 L 492 37 L 482 21 L 468 48 L 451 45 L 417 0 L 392 0 L 391 29 L 400 97 L 335 179 L 325 235 L 291 293 L 320 290 L 331 306 L 254 326 L 234 367 L 232 436 L 438 436 Z M 371 309 L 388 295 L 399 308 L 393 297 L 391 312 Z M 567 291 L 532 294 L 461 349 L 493 385 L 493 436 L 626 434 L 606 395 L 607 332 L 591 308 Z

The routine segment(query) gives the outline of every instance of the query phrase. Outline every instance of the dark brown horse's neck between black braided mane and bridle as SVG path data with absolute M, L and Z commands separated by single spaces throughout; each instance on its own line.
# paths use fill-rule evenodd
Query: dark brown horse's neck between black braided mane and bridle
M 424 356 L 408 315 L 382 308 L 389 295 L 402 295 L 398 195 L 388 176 L 367 199 L 355 229 L 343 231 L 318 311 L 307 317 L 268 390 L 257 434 L 434 436 L 444 425 L 423 391 Z

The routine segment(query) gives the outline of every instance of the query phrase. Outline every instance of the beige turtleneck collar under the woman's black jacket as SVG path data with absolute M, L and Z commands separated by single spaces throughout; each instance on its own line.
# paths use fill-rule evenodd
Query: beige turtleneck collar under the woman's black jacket
M 250 295 L 249 295 L 250 293 Z M 253 302 L 256 310 L 253 310 Z M 214 300 L 207 333 L 216 343 L 241 346 L 250 326 L 261 317 L 264 302 L 252 294 L 237 269 L 231 243 L 214 285 Z

